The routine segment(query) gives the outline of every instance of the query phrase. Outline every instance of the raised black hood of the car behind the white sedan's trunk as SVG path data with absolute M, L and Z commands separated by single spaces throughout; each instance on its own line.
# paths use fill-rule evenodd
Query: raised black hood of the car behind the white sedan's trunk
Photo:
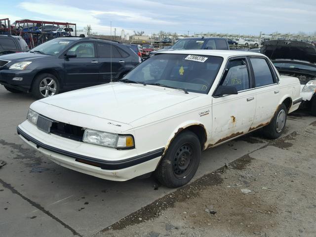
M 291 59 L 316 63 L 316 47 L 296 40 L 269 40 L 260 50 L 270 59 Z

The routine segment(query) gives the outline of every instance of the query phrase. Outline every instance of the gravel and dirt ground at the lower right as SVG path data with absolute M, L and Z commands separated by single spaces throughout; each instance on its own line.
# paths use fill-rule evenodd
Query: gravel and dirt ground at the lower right
M 313 122 L 93 237 L 315 237 L 315 141 Z

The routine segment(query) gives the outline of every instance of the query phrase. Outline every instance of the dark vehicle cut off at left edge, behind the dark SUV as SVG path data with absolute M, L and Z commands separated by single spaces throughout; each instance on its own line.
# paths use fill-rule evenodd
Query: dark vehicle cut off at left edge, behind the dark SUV
M 27 51 L 29 51 L 28 44 L 22 37 L 0 35 L 0 55 Z

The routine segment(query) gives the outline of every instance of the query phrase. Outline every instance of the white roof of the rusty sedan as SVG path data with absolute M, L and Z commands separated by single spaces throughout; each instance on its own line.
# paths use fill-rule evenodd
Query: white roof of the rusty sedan
M 215 49 L 196 49 L 196 50 L 172 50 L 157 52 L 157 54 L 195 54 L 195 55 L 208 55 L 229 58 L 232 56 L 265 56 L 261 53 L 237 50 L 215 50 Z M 265 56 L 267 57 L 267 56 Z

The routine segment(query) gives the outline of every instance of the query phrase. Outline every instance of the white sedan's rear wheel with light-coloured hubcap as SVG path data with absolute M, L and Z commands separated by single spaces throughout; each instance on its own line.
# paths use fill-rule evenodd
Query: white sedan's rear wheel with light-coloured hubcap
M 264 135 L 269 139 L 276 139 L 279 136 L 281 136 L 285 128 L 286 118 L 287 118 L 286 106 L 284 104 L 281 104 L 278 107 L 278 110 L 276 111 L 276 114 L 272 118 L 271 122 L 267 126 L 263 127 Z

